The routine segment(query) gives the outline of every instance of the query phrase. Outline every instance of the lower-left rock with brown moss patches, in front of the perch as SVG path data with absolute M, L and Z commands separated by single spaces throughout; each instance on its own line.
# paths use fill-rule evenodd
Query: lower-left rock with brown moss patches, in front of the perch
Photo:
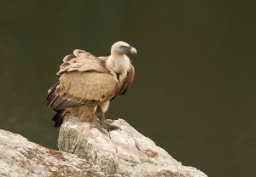
M 0 130 L 0 176 L 104 176 L 85 159 L 32 143 L 20 134 Z

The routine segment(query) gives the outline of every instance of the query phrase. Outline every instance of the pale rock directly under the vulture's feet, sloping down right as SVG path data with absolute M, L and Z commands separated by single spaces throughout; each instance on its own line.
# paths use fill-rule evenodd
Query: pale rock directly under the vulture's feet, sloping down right
M 59 150 L 86 159 L 92 168 L 104 172 L 105 176 L 207 176 L 196 168 L 177 162 L 125 120 L 119 119 L 113 124 L 121 130 L 111 131 L 107 136 L 90 128 L 89 123 L 78 123 L 77 118 L 66 117 L 60 129 Z

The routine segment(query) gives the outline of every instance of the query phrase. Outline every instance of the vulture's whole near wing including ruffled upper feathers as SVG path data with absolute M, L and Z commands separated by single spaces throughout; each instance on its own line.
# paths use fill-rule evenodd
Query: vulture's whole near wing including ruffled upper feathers
M 84 50 L 63 59 L 59 83 L 49 89 L 47 106 L 61 111 L 72 106 L 96 104 L 110 99 L 117 92 L 118 84 L 104 67 L 102 61 Z

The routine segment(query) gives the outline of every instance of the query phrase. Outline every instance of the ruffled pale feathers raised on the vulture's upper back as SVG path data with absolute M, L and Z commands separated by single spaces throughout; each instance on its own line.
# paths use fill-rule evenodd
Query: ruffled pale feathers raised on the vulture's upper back
M 61 75 L 67 71 L 99 71 L 108 73 L 104 67 L 102 60 L 84 50 L 75 49 L 73 54 L 64 57 L 63 64 L 57 75 Z

